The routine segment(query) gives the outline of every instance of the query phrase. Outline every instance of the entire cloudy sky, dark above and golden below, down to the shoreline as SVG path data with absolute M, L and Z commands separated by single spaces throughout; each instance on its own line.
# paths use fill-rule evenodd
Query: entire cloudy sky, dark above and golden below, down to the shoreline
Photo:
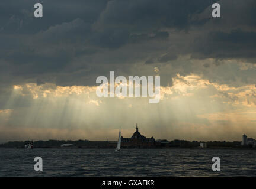
M 0 2 L 0 142 L 256 138 L 255 0 Z M 212 4 L 221 18 L 212 18 Z M 161 101 L 100 98 L 98 76 L 160 76 Z

